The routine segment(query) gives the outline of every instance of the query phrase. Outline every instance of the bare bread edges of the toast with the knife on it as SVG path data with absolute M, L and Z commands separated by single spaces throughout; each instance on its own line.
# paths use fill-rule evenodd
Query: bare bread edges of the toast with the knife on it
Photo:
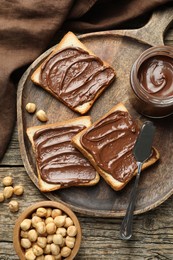
M 96 125 L 98 122 L 100 122 L 103 118 L 105 118 L 106 116 L 108 116 L 109 114 L 111 114 L 114 111 L 125 111 L 128 112 L 128 110 L 126 109 L 126 107 L 122 104 L 119 103 L 116 106 L 114 106 L 108 113 L 106 113 L 101 119 L 97 120 L 93 125 Z M 90 127 L 88 127 L 90 128 Z M 126 184 L 133 178 L 133 176 L 135 176 L 137 174 L 137 170 L 133 173 L 133 175 L 127 179 L 125 182 L 120 182 L 118 180 L 116 180 L 115 178 L 112 177 L 112 175 L 110 175 L 109 173 L 105 172 L 102 168 L 100 168 L 94 157 L 92 156 L 91 153 L 89 153 L 81 144 L 80 139 L 81 137 L 86 133 L 86 131 L 88 130 L 84 129 L 82 130 L 80 133 L 78 133 L 77 135 L 75 135 L 72 138 L 72 143 L 74 144 L 74 146 L 76 148 L 78 148 L 85 157 L 88 158 L 88 160 L 91 162 L 91 164 L 95 167 L 96 171 L 103 177 L 103 179 L 116 191 L 123 189 Z M 153 147 L 153 151 L 154 151 L 154 156 L 151 156 L 146 162 L 143 163 L 142 165 L 142 170 L 146 169 L 147 167 L 151 166 L 152 164 L 154 164 L 160 157 L 159 152 L 156 148 Z

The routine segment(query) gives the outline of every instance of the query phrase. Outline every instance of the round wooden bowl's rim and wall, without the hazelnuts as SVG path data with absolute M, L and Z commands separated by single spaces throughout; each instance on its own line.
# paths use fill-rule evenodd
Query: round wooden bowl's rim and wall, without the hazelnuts
M 76 241 L 75 241 L 75 246 L 71 251 L 70 256 L 66 257 L 65 259 L 67 260 L 72 260 L 78 253 L 78 250 L 80 248 L 81 244 L 81 239 L 82 239 L 82 231 L 80 227 L 80 223 L 76 217 L 76 215 L 73 213 L 73 211 L 68 208 L 67 206 L 63 205 L 62 203 L 55 202 L 55 201 L 42 201 L 38 202 L 27 209 L 25 209 L 22 214 L 19 216 L 19 218 L 16 220 L 15 226 L 14 226 L 14 231 L 13 231 L 13 245 L 14 249 L 19 256 L 20 260 L 24 260 L 25 258 L 25 249 L 22 248 L 21 243 L 20 243 L 20 224 L 21 222 L 26 219 L 26 218 L 31 218 L 32 213 L 34 213 L 37 208 L 44 207 L 44 208 L 52 208 L 52 209 L 61 209 L 63 213 L 65 213 L 67 216 L 69 216 L 72 220 L 74 225 L 77 228 L 77 235 L 76 235 Z M 63 259 L 63 258 L 62 258 Z

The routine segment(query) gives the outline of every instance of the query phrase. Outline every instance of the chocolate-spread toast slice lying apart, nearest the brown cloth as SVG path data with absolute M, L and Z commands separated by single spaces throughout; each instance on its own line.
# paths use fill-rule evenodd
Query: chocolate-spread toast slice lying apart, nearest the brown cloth
M 115 71 L 68 32 L 31 80 L 66 106 L 85 114 L 115 79 Z

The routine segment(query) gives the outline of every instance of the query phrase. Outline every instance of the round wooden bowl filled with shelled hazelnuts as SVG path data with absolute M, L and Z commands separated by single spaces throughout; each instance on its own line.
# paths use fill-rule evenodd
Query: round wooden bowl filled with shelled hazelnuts
M 76 215 L 62 203 L 42 201 L 16 220 L 14 249 L 20 260 L 72 260 L 82 238 Z

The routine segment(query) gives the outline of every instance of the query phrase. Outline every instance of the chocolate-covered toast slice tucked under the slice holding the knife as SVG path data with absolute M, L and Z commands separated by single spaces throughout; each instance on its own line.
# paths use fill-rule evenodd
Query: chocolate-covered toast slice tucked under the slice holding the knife
M 95 185 L 100 176 L 73 146 L 71 138 L 91 125 L 89 116 L 27 128 L 43 192 L 70 186 Z

